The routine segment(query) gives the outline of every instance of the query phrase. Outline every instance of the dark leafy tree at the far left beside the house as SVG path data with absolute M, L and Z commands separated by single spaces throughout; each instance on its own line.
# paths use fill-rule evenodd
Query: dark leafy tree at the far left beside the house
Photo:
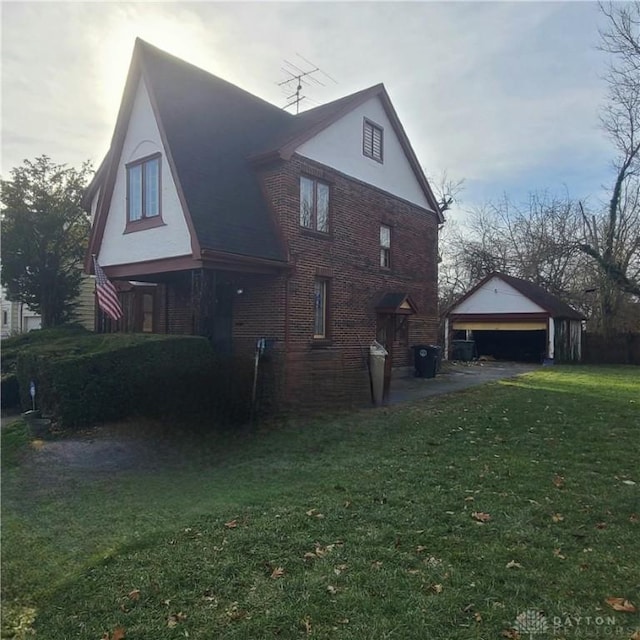
M 92 173 L 56 165 L 43 155 L 0 180 L 1 280 L 10 300 L 42 316 L 43 328 L 73 317 L 89 220 L 81 206 Z

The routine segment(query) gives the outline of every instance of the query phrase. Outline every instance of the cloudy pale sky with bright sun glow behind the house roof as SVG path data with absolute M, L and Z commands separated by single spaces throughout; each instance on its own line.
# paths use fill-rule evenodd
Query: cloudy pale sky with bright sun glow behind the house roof
M 535 190 L 597 197 L 605 55 L 591 2 L 3 2 L 2 176 L 25 158 L 98 165 L 136 36 L 278 106 L 283 61 L 309 66 L 302 108 L 383 82 L 427 175 L 463 206 Z M 293 90 L 292 90 L 293 91 Z M 292 92 L 291 91 L 291 92 Z

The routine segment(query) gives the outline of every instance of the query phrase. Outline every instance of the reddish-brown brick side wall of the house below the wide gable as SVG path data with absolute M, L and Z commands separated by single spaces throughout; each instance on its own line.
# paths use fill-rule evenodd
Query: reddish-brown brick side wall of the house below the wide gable
M 300 227 L 300 175 L 330 185 L 328 234 Z M 376 337 L 375 307 L 385 293 L 407 293 L 418 308 L 409 318 L 406 342 L 395 345 L 394 366 L 412 362 L 411 344 L 436 341 L 437 220 L 299 156 L 261 169 L 260 176 L 291 262 L 290 273 L 273 281 L 264 301 L 275 295 L 273 308 L 288 311 L 278 325 L 285 351 L 283 394 L 293 404 L 366 401 L 367 346 Z M 380 267 L 380 224 L 392 230 L 390 269 Z M 329 281 L 327 341 L 313 338 L 316 277 Z M 238 336 L 251 326 L 240 322 Z

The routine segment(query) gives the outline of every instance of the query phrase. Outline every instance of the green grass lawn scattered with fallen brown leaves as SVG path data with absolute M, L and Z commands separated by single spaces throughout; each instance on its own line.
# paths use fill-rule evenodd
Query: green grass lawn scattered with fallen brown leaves
M 526 612 L 547 621 L 534 639 L 640 628 L 605 602 L 640 608 L 638 368 L 183 436 L 169 468 L 55 482 L 20 462 L 20 429 L 3 637 L 529 638 Z

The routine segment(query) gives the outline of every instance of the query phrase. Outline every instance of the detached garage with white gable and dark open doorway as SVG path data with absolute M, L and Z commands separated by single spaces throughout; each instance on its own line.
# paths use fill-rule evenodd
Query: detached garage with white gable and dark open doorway
M 473 341 L 477 357 L 577 362 L 584 316 L 538 285 L 503 273 L 481 280 L 449 309 L 445 354 Z

